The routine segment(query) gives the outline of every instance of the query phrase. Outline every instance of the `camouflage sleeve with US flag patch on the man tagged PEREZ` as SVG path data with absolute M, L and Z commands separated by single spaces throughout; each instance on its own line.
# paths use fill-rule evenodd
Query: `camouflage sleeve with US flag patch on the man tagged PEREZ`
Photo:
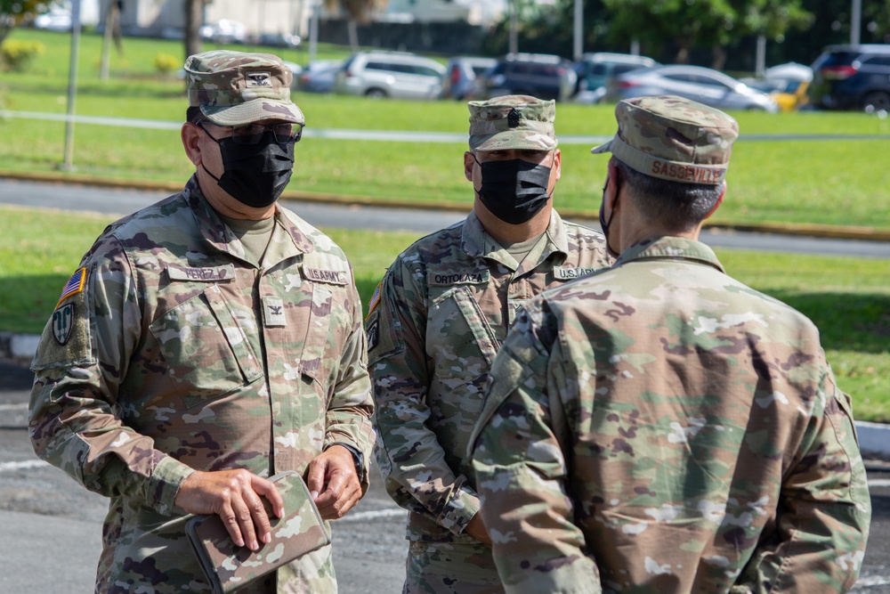
M 191 468 L 125 426 L 120 381 L 140 340 L 142 319 L 129 261 L 117 241 L 98 242 L 81 263 L 83 290 L 63 299 L 47 322 L 31 369 L 28 431 L 36 454 L 93 492 L 174 508 Z M 68 337 L 53 323 L 71 316 Z

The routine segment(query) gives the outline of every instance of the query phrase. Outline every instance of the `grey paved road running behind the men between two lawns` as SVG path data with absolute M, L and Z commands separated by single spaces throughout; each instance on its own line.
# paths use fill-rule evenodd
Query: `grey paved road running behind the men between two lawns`
M 166 196 L 167 193 L 160 191 L 0 179 L 0 202 L 25 207 L 128 215 Z M 313 202 L 288 202 L 288 206 L 316 226 L 380 231 L 404 230 L 428 233 L 455 223 L 465 216 L 464 213 L 449 210 L 357 207 Z M 585 223 L 599 227 L 595 221 L 585 221 Z M 701 240 L 715 248 L 890 258 L 890 243 L 879 241 L 833 240 L 723 230 L 706 230 L 702 233 Z

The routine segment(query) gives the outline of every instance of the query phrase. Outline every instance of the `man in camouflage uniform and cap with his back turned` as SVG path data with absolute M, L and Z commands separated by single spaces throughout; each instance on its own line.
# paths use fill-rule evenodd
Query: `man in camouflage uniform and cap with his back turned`
M 813 323 L 697 238 L 734 119 L 619 102 L 601 219 L 615 266 L 527 307 L 473 430 L 508 592 L 842 592 L 870 498 Z

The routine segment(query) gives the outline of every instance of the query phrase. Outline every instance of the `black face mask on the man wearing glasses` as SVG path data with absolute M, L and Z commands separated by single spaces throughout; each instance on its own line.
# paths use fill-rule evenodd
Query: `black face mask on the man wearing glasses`
M 210 136 L 210 134 L 207 134 Z M 256 144 L 236 144 L 231 136 L 215 139 L 223 157 L 223 175 L 207 175 L 232 198 L 248 207 L 263 208 L 279 199 L 294 173 L 294 143 L 275 141 L 271 132 L 263 133 Z

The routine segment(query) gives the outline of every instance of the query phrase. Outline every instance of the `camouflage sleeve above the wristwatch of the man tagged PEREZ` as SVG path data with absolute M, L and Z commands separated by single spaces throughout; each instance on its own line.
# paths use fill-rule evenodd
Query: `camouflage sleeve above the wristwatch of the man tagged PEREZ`
M 354 276 L 351 289 L 355 306 L 352 307 L 349 338 L 340 358 L 336 385 L 328 403 L 324 447 L 327 449 L 335 443 L 345 443 L 361 453 L 363 468 L 360 468 L 359 476 L 362 479 L 362 492 L 367 492 L 368 468 L 374 444 L 371 425 L 374 403 L 368 378 L 368 346 L 361 324 L 361 301 L 355 289 Z

